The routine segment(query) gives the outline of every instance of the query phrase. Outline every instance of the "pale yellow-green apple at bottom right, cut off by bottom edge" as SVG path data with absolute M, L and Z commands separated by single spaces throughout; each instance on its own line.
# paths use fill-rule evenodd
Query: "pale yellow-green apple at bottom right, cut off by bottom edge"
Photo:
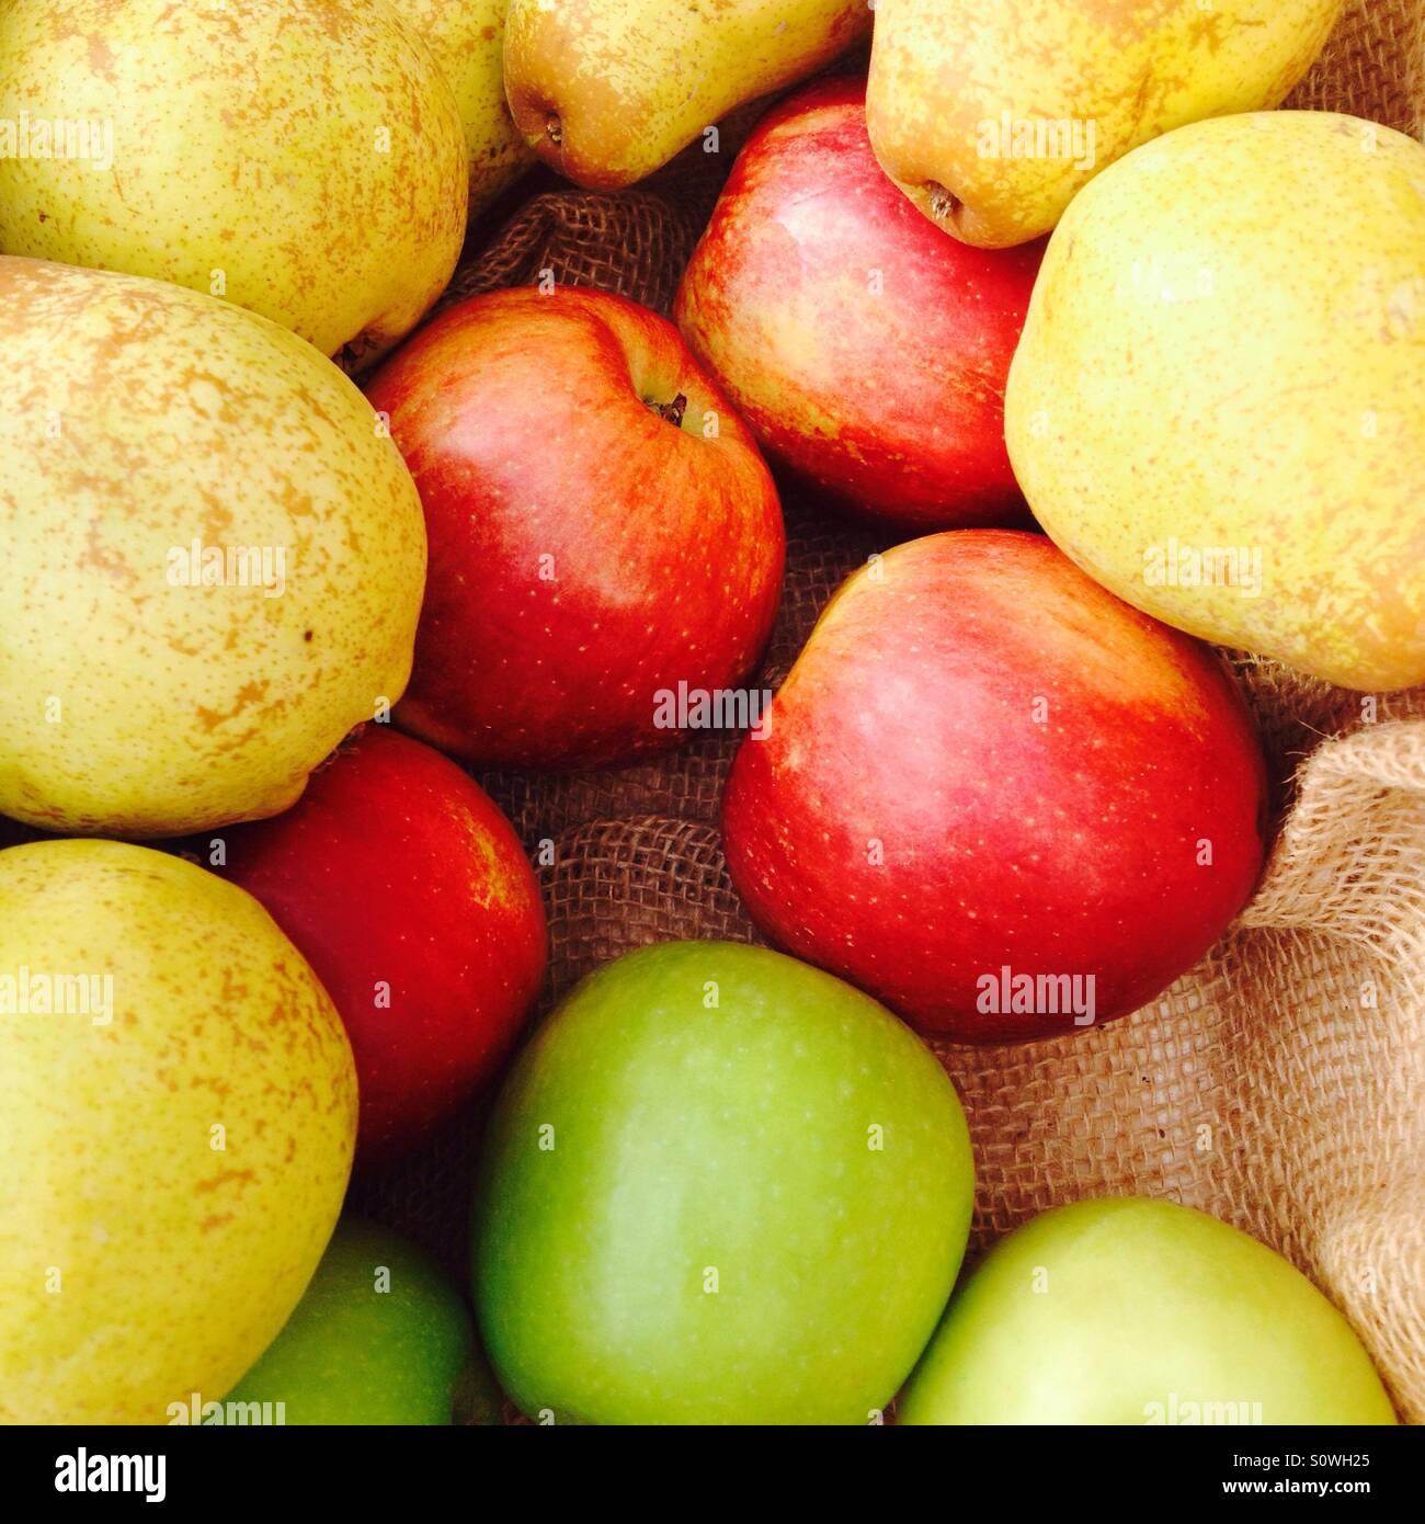
M 1280 1254 L 1170 1201 L 1046 1212 L 966 1277 L 901 1423 L 1393 1423 L 1350 1324 Z

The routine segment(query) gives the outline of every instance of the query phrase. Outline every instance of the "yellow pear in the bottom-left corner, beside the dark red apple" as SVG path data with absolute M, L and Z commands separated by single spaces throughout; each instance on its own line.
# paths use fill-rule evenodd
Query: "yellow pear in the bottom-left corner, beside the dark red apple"
M 0 1422 L 219 1401 L 337 1221 L 357 1074 L 267 911 L 119 841 L 0 852 Z

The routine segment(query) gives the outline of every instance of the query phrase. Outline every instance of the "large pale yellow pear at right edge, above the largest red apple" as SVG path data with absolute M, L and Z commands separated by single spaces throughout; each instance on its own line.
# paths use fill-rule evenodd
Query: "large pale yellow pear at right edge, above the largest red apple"
M 1344 687 L 1425 681 L 1425 148 L 1262 111 L 1135 149 L 1049 241 L 1004 433 L 1119 597 Z

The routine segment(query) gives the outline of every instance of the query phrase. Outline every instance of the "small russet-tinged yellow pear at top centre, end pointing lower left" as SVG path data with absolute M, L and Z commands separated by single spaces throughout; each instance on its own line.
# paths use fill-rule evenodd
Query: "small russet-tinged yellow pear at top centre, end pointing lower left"
M 540 157 L 611 190 L 870 35 L 867 0 L 511 0 L 504 91 Z

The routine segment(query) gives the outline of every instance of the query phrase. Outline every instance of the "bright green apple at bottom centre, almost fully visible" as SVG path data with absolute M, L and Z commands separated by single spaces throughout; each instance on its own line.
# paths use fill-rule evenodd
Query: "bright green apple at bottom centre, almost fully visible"
M 869 995 L 764 948 L 642 948 L 575 989 L 500 1094 L 485 1347 L 532 1417 L 875 1422 L 972 1193 L 954 1087 Z

